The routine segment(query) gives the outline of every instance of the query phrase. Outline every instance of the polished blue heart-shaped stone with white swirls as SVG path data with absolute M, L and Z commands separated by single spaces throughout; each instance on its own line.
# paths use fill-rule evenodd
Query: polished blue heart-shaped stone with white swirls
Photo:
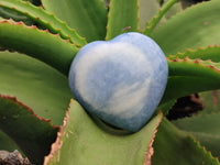
M 130 32 L 84 46 L 72 63 L 69 85 L 88 112 L 136 132 L 158 106 L 167 77 L 168 65 L 160 46 Z

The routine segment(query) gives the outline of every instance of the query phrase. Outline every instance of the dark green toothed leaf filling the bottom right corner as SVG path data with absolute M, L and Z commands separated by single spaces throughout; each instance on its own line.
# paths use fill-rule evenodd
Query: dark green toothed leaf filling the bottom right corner
M 190 127 L 193 123 L 190 124 Z M 191 136 L 178 130 L 165 118 L 153 143 L 152 165 L 219 165 L 218 158 L 201 147 Z

